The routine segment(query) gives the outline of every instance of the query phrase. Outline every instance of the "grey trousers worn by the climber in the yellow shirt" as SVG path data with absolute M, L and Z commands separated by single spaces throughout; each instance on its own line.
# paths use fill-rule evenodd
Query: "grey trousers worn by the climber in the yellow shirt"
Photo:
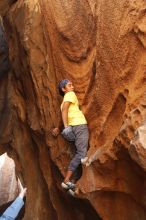
M 81 159 L 86 156 L 89 141 L 89 132 L 87 125 L 73 126 L 73 132 L 75 133 L 75 145 L 77 148 L 74 158 L 69 164 L 68 170 L 75 171 L 81 163 Z

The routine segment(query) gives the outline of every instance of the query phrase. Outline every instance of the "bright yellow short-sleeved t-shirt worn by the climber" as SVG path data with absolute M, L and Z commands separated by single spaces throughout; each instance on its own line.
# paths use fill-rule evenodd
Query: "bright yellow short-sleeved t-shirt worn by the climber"
M 64 95 L 63 102 L 61 104 L 61 110 L 64 102 L 71 102 L 68 109 L 68 125 L 82 125 L 87 124 L 85 116 L 79 109 L 79 102 L 74 92 L 67 92 Z

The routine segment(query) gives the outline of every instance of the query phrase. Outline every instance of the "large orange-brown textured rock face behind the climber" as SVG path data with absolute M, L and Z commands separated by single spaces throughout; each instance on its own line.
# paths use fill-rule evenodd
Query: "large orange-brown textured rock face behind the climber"
M 143 0 L 0 1 L 12 67 L 1 79 L 0 143 L 28 188 L 25 220 L 146 218 L 145 9 Z M 81 200 L 60 187 L 73 146 L 51 135 L 62 78 L 90 129 Z

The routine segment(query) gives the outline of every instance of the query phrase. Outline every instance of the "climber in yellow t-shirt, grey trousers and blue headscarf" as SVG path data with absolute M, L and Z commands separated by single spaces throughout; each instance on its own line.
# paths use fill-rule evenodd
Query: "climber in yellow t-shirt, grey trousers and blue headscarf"
M 61 186 L 64 189 L 74 189 L 75 184 L 72 182 L 71 177 L 77 167 L 83 163 L 86 158 L 88 149 L 88 127 L 84 114 L 79 109 L 79 102 L 76 94 L 74 93 L 74 86 L 68 79 L 61 80 L 58 85 L 59 93 L 63 96 L 61 104 L 61 114 L 64 124 L 62 135 L 68 141 L 74 141 L 76 147 L 76 154 L 71 160 L 64 181 Z M 59 128 L 54 128 L 52 131 L 54 136 L 59 134 Z

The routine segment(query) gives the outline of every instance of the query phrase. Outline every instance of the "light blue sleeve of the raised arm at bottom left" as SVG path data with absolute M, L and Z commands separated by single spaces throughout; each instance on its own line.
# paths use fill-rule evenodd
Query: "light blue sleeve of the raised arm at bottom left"
M 15 201 L 6 209 L 2 216 L 5 218 L 15 219 L 23 205 L 23 199 L 18 196 Z

